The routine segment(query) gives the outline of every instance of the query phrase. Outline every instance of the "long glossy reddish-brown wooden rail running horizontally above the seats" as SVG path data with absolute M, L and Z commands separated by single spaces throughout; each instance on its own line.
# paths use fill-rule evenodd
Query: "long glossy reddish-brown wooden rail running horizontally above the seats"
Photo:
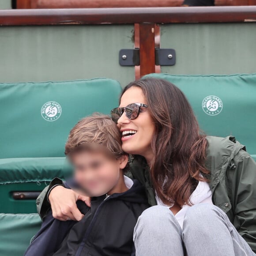
M 0 10 L 0 26 L 256 21 L 256 6 Z

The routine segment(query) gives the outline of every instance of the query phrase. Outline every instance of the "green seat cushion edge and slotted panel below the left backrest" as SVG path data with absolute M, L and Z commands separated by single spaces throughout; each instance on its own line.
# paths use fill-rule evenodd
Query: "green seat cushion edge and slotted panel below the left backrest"
M 41 192 L 54 177 L 66 179 L 70 173 L 65 158 L 0 159 L 0 212 L 36 213 L 35 200 L 15 200 L 12 192 Z

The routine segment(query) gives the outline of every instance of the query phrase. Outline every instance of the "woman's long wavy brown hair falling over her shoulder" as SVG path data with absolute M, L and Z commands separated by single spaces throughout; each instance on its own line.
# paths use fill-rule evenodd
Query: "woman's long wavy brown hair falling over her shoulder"
M 150 166 L 154 189 L 163 203 L 174 200 L 191 205 L 189 198 L 198 181 L 207 180 L 201 175 L 208 174 L 206 136 L 200 132 L 187 98 L 174 84 L 143 78 L 129 83 L 122 95 L 134 86 L 142 89 L 155 124 Z

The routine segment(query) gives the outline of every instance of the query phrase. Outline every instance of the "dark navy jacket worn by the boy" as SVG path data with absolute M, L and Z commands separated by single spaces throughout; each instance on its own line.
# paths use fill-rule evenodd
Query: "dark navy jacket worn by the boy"
M 55 178 L 53 182 L 59 182 Z M 65 184 L 73 187 L 72 184 Z M 41 229 L 25 256 L 120 256 L 135 255 L 133 229 L 141 213 L 149 207 L 143 186 L 134 180 L 124 193 L 95 197 L 91 207 L 79 201 L 85 215 L 79 222 L 62 222 L 45 216 Z

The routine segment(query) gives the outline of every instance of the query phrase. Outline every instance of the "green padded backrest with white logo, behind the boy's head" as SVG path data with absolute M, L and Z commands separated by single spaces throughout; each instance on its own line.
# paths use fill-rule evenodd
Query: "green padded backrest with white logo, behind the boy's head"
M 0 83 L 0 158 L 61 157 L 71 128 L 118 105 L 112 79 Z

